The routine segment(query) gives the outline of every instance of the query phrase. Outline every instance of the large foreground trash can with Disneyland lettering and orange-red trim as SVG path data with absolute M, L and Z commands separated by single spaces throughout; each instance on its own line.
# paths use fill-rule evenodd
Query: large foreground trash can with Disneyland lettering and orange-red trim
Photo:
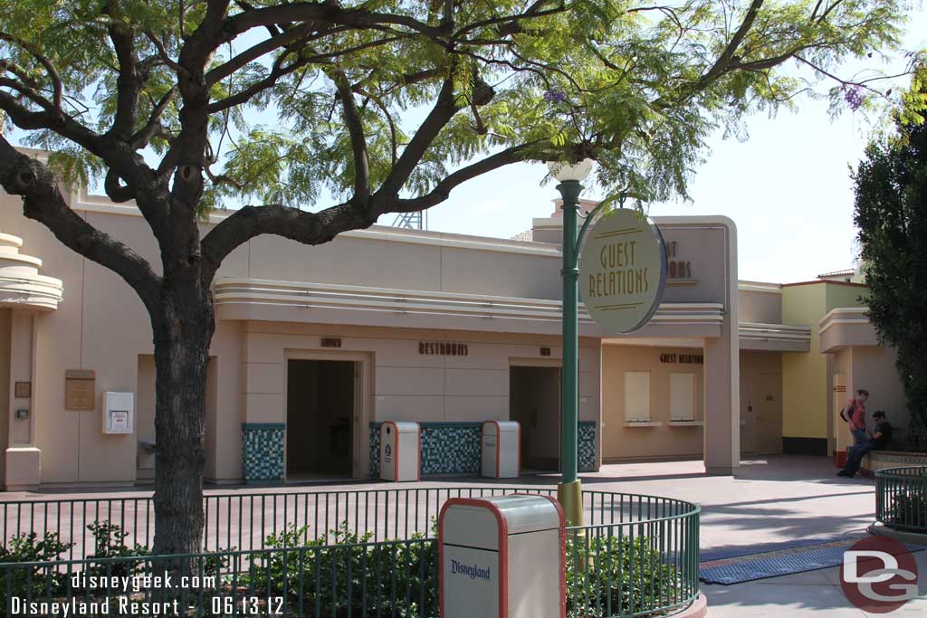
M 565 618 L 565 541 L 549 496 L 449 499 L 438 517 L 441 618 Z

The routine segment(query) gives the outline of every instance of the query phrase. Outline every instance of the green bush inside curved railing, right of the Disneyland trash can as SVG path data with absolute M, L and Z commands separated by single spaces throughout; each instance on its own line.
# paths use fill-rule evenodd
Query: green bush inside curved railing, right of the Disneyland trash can
M 569 537 L 566 615 L 631 615 L 684 598 L 680 575 L 664 561 L 658 541 L 609 534 Z

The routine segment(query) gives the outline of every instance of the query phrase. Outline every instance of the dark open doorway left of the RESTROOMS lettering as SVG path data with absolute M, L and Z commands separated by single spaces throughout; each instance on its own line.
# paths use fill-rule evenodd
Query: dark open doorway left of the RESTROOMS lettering
M 286 480 L 351 476 L 354 375 L 345 360 L 287 362 Z

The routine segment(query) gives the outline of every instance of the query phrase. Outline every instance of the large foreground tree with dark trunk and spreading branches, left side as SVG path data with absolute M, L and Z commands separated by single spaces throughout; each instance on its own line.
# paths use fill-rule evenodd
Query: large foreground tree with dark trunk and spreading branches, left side
M 0 183 L 26 217 L 119 274 L 151 319 L 165 553 L 199 548 L 210 284 L 236 246 L 265 233 L 319 245 L 525 160 L 596 158 L 609 190 L 685 195 L 708 132 L 791 105 L 846 57 L 895 48 L 903 8 L 0 0 L 0 11 L 0 109 L 53 153 L 43 165 L 0 138 Z M 797 69 L 779 70 L 789 60 Z M 834 99 L 871 89 L 831 83 Z M 134 200 L 161 263 L 76 216 L 56 174 Z M 322 191 L 338 203 L 298 208 Z M 260 206 L 201 237 L 197 218 L 223 202 Z

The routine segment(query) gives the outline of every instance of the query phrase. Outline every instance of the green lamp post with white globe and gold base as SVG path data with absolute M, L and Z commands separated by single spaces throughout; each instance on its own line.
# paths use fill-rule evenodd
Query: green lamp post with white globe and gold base
M 560 444 L 562 478 L 557 486 L 557 501 L 564 508 L 567 525 L 582 524 L 582 486 L 578 478 L 578 290 L 579 192 L 581 181 L 592 170 L 592 159 L 576 164 L 549 162 L 551 174 L 560 184 L 557 191 L 564 198 L 563 269 L 563 369 L 560 372 Z

